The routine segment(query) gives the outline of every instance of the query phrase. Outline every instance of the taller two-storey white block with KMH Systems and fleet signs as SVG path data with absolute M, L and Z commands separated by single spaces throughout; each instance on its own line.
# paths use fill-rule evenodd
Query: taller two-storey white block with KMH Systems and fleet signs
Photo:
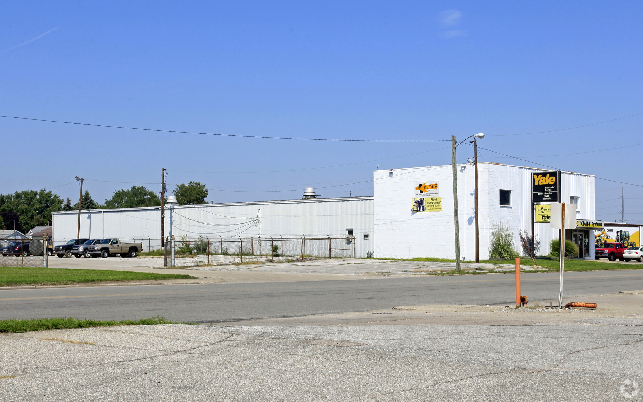
M 480 259 L 489 259 L 491 232 L 499 225 L 513 232 L 514 248 L 521 253 L 520 231 L 531 234 L 532 173 L 541 171 L 498 163 L 478 163 Z M 602 228 L 602 221 L 594 220 L 594 176 L 572 172 L 561 172 L 561 176 L 561 200 L 577 204 L 577 220 Z M 376 257 L 453 259 L 452 178 L 451 165 L 374 171 Z M 460 256 L 471 261 L 475 260 L 476 246 L 473 165 L 457 165 L 457 178 Z M 430 205 L 426 194 L 416 194 L 419 185 L 433 185 L 434 188 L 427 188 L 428 196 L 435 199 Z M 594 258 L 593 230 L 577 228 L 565 232 L 566 239 L 579 244 L 579 257 Z M 558 230 L 552 229 L 549 222 L 534 223 L 534 234 L 541 241 L 538 255 L 547 255 L 550 241 L 558 238 Z

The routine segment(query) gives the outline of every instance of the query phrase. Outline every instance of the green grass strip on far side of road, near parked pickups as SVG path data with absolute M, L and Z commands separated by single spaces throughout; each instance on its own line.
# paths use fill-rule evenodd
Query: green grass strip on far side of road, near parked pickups
M 66 285 L 122 280 L 196 279 L 190 275 L 70 268 L 0 267 L 0 286 Z

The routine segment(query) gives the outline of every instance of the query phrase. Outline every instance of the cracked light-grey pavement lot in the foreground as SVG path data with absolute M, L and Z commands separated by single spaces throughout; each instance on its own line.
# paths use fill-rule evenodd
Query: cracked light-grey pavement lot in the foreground
M 623 381 L 643 383 L 642 344 L 640 315 L 530 325 L 154 325 L 4 334 L 0 399 L 621 401 Z

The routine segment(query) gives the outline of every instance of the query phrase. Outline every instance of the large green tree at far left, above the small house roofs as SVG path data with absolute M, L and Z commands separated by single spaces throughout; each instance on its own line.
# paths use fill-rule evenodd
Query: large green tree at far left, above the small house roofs
M 34 226 L 48 226 L 51 221 L 51 212 L 61 209 L 62 199 L 44 188 L 40 191 L 22 190 L 0 196 L 0 212 L 15 212 L 20 221 L 20 225 L 16 223 L 16 228 L 20 226 L 26 231 Z M 3 225 L 8 229 L 13 228 L 13 222 L 5 222 L 4 217 Z

